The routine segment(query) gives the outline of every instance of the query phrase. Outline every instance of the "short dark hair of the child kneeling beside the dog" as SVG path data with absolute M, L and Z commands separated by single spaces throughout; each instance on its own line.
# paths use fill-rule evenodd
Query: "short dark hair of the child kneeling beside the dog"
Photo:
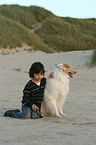
M 29 69 L 29 77 L 34 78 L 34 73 L 38 74 L 41 71 L 43 72 L 43 75 L 44 75 L 45 70 L 44 70 L 43 64 L 40 62 L 34 62 Z

